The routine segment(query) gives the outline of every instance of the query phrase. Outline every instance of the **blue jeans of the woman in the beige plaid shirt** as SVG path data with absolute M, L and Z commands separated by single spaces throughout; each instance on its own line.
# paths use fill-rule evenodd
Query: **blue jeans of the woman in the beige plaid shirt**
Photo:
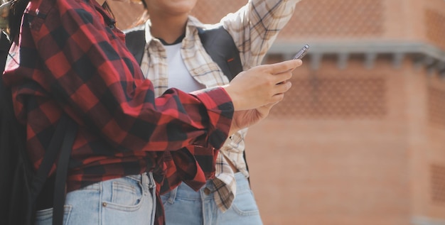
M 262 224 L 257 203 L 247 178 L 241 172 L 235 174 L 237 194 L 230 209 L 221 212 L 213 199 L 215 187 L 210 180 L 198 192 L 181 183 L 176 189 L 161 195 L 166 214 L 166 224 Z M 205 191 L 205 188 L 210 190 Z M 205 193 L 209 194 L 205 194 Z

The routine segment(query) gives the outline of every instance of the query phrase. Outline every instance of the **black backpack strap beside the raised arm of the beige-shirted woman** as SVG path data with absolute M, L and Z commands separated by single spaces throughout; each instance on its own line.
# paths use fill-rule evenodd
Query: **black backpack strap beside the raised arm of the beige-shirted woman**
M 205 51 L 229 80 L 242 72 L 240 51 L 223 26 L 211 29 L 198 28 L 198 35 Z

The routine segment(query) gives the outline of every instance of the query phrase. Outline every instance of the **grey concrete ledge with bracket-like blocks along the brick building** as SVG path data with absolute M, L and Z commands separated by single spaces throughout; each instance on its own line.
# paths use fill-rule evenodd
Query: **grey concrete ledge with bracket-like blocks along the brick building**
M 285 55 L 291 58 L 306 43 L 276 42 L 268 54 Z M 308 55 L 311 57 L 311 68 L 317 70 L 323 55 L 337 55 L 338 67 L 347 67 L 350 55 L 364 55 L 365 67 L 372 69 L 378 55 L 390 55 L 395 67 L 399 67 L 405 58 L 410 58 L 415 65 L 427 67 L 431 72 L 445 75 L 445 50 L 422 42 L 396 41 L 351 41 L 351 42 L 317 42 L 310 45 Z

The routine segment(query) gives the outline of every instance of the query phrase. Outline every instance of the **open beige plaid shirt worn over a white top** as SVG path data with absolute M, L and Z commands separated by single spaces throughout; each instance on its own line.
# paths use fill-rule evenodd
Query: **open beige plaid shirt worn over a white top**
M 260 65 L 264 55 L 271 47 L 279 31 L 286 25 L 300 0 L 250 0 L 239 11 L 229 13 L 220 23 L 232 35 L 240 50 L 242 67 L 248 70 Z M 168 88 L 168 66 L 166 50 L 161 41 L 151 36 L 150 21 L 146 23 L 146 48 L 141 62 L 141 70 L 146 78 L 154 84 L 156 96 L 161 95 Z M 198 36 L 197 27 L 210 28 L 212 25 L 200 23 L 190 16 L 186 37 L 182 41 L 181 56 L 189 72 L 205 87 L 227 84 L 229 81 L 218 65 L 205 52 Z M 233 165 L 249 177 L 243 158 L 245 150 L 245 135 L 247 129 L 239 131 L 227 138 L 220 149 L 216 162 L 214 192 L 215 202 L 219 209 L 225 212 L 232 205 L 236 196 L 235 175 L 225 157 Z M 224 157 L 225 155 L 225 157 Z

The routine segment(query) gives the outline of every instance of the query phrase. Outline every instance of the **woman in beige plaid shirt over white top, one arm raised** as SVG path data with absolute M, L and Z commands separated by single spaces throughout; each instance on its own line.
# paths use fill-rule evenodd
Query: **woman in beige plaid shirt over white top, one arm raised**
M 143 1 L 149 20 L 141 70 L 153 82 L 156 95 L 170 87 L 192 92 L 229 82 L 200 42 L 198 28 L 215 25 L 190 15 L 197 0 Z M 261 64 L 299 1 L 250 0 L 220 20 L 218 25 L 230 33 L 240 51 L 243 70 Z M 216 160 L 215 177 L 198 192 L 182 182 L 161 196 L 166 224 L 262 224 L 243 158 L 246 133 L 247 129 L 227 139 Z

